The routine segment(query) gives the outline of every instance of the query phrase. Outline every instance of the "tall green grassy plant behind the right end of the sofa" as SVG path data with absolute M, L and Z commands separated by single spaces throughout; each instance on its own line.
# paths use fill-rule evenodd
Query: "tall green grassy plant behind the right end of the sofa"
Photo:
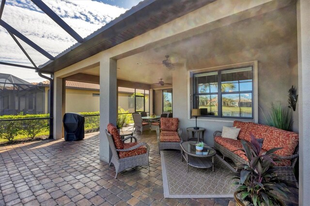
M 268 116 L 266 117 L 264 115 L 264 118 L 269 126 L 286 131 L 291 130 L 293 123 L 291 109 L 288 107 L 282 107 L 282 104 L 279 102 L 271 104 Z

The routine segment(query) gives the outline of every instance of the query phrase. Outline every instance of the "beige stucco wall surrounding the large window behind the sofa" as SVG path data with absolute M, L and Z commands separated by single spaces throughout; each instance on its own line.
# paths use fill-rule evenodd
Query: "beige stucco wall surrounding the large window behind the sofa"
M 257 26 L 259 29 L 255 30 Z M 201 57 L 196 57 L 195 61 L 187 63 L 187 67 L 173 73 L 173 116 L 180 118 L 180 127 L 184 131 L 195 124 L 194 119 L 188 119 L 186 101 L 190 92 L 186 84 L 190 70 L 258 60 L 259 107 L 267 114 L 274 101 L 288 105 L 288 89 L 298 85 L 295 5 L 217 29 L 213 34 L 220 35 L 204 35 L 206 41 L 217 41 L 210 42 L 217 44 L 216 50 L 206 49 Z M 260 108 L 259 123 L 265 123 Z M 293 131 L 298 132 L 298 107 L 293 112 L 293 120 Z M 213 146 L 213 132 L 221 131 L 223 125 L 232 126 L 233 121 L 204 118 L 197 124 L 206 129 L 204 141 Z M 186 139 L 186 132 L 183 132 L 183 138 Z

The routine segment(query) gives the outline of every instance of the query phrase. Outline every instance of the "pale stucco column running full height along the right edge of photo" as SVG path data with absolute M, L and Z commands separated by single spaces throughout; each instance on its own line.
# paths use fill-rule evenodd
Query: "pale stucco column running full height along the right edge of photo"
M 297 1 L 299 205 L 310 197 L 310 1 Z

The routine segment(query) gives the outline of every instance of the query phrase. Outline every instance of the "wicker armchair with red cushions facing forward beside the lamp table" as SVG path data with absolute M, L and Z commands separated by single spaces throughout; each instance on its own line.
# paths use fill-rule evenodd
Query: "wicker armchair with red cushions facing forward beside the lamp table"
M 182 130 L 178 128 L 178 118 L 160 118 L 160 128 L 156 128 L 158 149 L 178 149 L 183 142 Z

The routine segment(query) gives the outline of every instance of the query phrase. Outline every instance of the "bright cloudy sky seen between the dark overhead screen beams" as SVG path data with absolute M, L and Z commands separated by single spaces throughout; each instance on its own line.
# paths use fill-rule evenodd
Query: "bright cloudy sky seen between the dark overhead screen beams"
M 124 8 L 91 0 L 44 0 L 44 2 L 82 38 L 126 11 Z M 76 43 L 75 39 L 30 0 L 6 0 L 2 20 L 52 56 L 58 55 Z M 19 39 L 18 41 L 37 66 L 47 62 L 48 59 L 45 56 L 23 41 Z M 2 27 L 0 27 L 0 61 L 32 66 L 9 33 Z M 13 74 L 19 78 L 27 77 L 35 82 L 44 80 L 40 77 L 38 79 L 38 75 L 33 70 L 30 72 L 29 69 L 5 65 L 0 65 L 0 73 Z M 32 79 L 31 76 L 33 76 Z

